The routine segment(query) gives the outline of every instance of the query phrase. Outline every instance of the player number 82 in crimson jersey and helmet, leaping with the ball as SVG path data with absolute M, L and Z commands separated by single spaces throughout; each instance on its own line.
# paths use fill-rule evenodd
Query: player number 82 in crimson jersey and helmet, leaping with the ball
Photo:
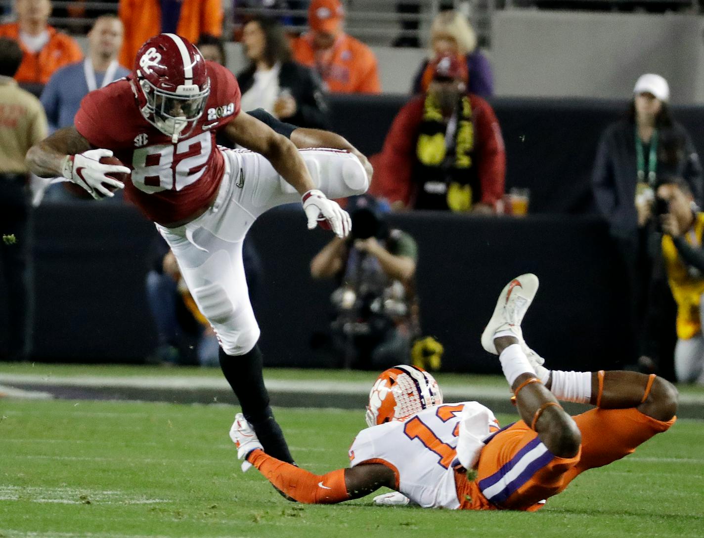
M 271 454 L 293 461 L 264 387 L 242 241 L 260 214 L 298 200 L 308 229 L 346 236 L 349 215 L 327 196 L 365 192 L 368 162 L 335 134 L 296 129 L 289 140 L 241 112 L 232 73 L 175 34 L 146 41 L 132 75 L 88 94 L 74 123 L 30 149 L 30 169 L 63 176 L 94 198 L 125 188 L 170 245 L 218 335 L 220 365 L 244 416 Z M 246 149 L 217 146 L 218 131 Z M 125 166 L 100 162 L 113 154 Z M 122 184 L 115 173 L 130 179 Z

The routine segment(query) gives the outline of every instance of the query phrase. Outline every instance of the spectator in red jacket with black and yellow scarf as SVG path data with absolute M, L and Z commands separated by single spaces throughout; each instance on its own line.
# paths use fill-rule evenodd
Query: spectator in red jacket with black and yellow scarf
M 489 103 L 468 93 L 454 54 L 432 62 L 427 94 L 398 111 L 372 191 L 394 209 L 492 214 L 504 192 L 506 158 Z

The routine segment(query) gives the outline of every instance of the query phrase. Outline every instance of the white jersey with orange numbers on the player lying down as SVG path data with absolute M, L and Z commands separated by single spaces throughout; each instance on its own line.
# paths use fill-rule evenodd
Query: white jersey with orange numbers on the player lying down
M 478 402 L 429 407 L 404 422 L 360 431 L 349 450 L 350 466 L 383 463 L 396 474 L 396 489 L 424 508 L 460 507 L 454 467 L 459 464 L 460 423 L 469 428 L 478 457 L 481 440 L 498 430 L 494 414 Z M 469 421 L 469 425 L 467 425 Z M 466 444 L 466 439 L 463 439 Z M 476 461 L 476 459 L 474 459 Z

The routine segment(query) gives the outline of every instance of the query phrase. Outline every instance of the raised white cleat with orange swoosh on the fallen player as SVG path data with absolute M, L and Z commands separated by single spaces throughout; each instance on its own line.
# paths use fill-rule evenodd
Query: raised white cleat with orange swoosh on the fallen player
M 494 335 L 500 331 L 510 331 L 518 338 L 522 347 L 528 349 L 523 340 L 521 323 L 528 307 L 533 302 L 538 286 L 538 277 L 532 273 L 517 276 L 504 286 L 498 296 L 494 315 L 491 316 L 484 333 L 482 333 L 484 350 L 495 355 L 498 354 L 494 345 Z

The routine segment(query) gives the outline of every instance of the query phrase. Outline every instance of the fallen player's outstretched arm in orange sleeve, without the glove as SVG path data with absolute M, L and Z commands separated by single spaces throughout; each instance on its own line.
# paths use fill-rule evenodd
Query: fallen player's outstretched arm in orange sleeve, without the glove
M 275 459 L 261 449 L 251 451 L 246 460 L 255 466 L 280 492 L 300 503 L 336 504 L 358 499 L 379 487 L 394 487 L 394 471 L 381 463 L 362 464 L 315 475 Z

